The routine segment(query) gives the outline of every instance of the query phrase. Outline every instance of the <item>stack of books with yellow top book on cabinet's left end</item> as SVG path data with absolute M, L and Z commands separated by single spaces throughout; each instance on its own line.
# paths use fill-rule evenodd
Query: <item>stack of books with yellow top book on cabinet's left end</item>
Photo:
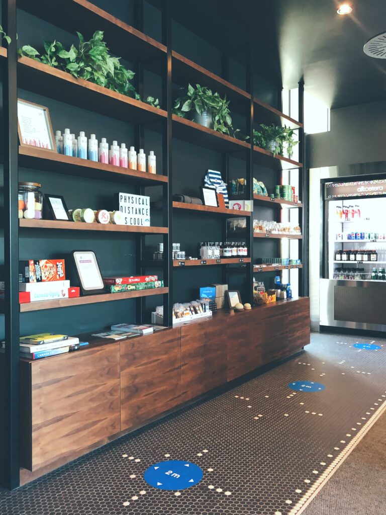
M 88 345 L 88 342 L 79 342 L 79 338 L 65 334 L 31 334 L 20 338 L 20 356 L 39 359 L 75 351 L 85 345 Z

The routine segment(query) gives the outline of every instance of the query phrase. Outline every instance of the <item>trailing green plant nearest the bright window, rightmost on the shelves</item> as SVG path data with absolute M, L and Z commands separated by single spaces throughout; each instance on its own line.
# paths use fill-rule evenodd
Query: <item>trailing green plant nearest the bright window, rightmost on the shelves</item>
M 249 136 L 246 136 L 246 140 Z M 277 125 L 261 124 L 259 130 L 253 130 L 253 144 L 260 148 L 265 148 L 273 152 L 275 157 L 277 154 L 283 156 L 285 147 L 288 157 L 291 159 L 293 147 L 299 142 L 294 139 L 294 132 L 289 127 L 279 127 Z

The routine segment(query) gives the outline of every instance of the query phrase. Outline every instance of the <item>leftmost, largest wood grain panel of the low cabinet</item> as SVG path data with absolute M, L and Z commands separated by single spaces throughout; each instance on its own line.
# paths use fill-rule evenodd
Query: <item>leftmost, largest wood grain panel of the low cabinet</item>
M 119 343 L 32 362 L 31 470 L 120 431 Z

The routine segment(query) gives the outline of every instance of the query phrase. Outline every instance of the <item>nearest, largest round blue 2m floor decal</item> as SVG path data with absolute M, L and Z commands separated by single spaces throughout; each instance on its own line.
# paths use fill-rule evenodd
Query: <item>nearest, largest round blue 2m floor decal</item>
M 168 460 L 149 467 L 144 479 L 160 490 L 184 490 L 197 485 L 202 476 L 200 467 L 190 461 Z

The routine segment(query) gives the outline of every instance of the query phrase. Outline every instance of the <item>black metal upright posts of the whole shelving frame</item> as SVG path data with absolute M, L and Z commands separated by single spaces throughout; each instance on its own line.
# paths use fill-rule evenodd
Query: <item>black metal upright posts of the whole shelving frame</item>
M 143 31 L 144 20 L 144 0 L 135 0 L 135 28 Z M 165 0 L 162 6 L 162 43 L 166 47 L 166 53 L 160 52 L 159 59 L 162 63 L 162 95 L 163 108 L 167 111 L 167 117 L 163 117 L 162 124 L 162 151 L 163 151 L 163 173 L 168 177 L 168 182 L 162 184 L 163 193 L 163 226 L 168 227 L 168 233 L 163 234 L 164 243 L 164 261 L 161 264 L 163 268 L 164 284 L 169 288 L 169 294 L 163 295 L 164 306 L 164 322 L 165 325 L 171 325 L 172 320 L 172 283 L 173 283 L 173 261 L 172 261 L 172 227 L 173 227 L 173 210 L 172 210 L 172 13 L 170 0 Z M 17 217 L 17 184 L 18 184 L 18 143 L 17 143 L 17 41 L 16 41 L 16 0 L 2 0 L 2 25 L 11 37 L 11 43 L 8 46 L 7 59 L 1 59 L 3 78 L 3 117 L 4 127 L 8 127 L 4 131 L 4 253 L 5 253 L 5 374 L 4 374 L 4 396 L 5 406 L 5 422 L 4 422 L 4 439 L 2 441 L 3 453 L 0 453 L 0 461 L 3 461 L 3 470 L 0 470 L 0 484 L 8 489 L 14 489 L 20 484 L 20 468 L 19 468 L 19 337 L 20 337 L 20 310 L 19 310 L 19 224 Z M 252 34 L 252 20 L 249 23 L 249 30 Z M 252 38 L 251 38 L 252 41 Z M 250 98 L 247 99 L 247 132 L 250 135 L 250 141 L 253 141 L 254 127 L 254 88 L 253 88 L 253 66 L 252 56 L 253 48 L 250 45 L 245 49 L 247 55 L 247 93 Z M 141 62 L 136 63 L 136 88 L 142 94 L 143 92 L 143 67 Z M 223 53 L 222 55 L 222 78 L 229 80 L 229 58 Z M 300 83 L 299 88 L 299 122 L 303 123 L 303 92 L 304 84 Z M 278 88 L 278 97 L 281 97 L 281 89 Z M 279 106 L 280 107 L 280 106 Z M 136 124 L 135 126 L 136 145 L 143 148 L 144 126 Z M 300 139 L 300 161 L 304 163 L 304 131 L 299 129 Z M 223 149 L 224 150 L 224 149 Z M 247 197 L 253 199 L 253 168 L 254 168 L 254 149 L 244 148 L 238 150 L 245 152 L 245 172 L 248 184 Z M 225 182 L 229 181 L 229 152 L 222 151 L 222 170 Z M 303 158 L 303 159 L 302 159 Z M 282 169 L 280 163 L 277 164 L 277 175 L 281 177 Z M 300 195 L 303 200 L 304 209 L 303 231 L 304 238 L 302 240 L 301 257 L 305 263 L 307 237 L 306 237 L 306 209 L 307 199 L 304 194 L 307 192 L 306 175 L 302 169 L 299 169 L 300 177 Z M 143 194 L 145 186 L 136 185 L 136 193 Z M 178 216 L 175 214 L 174 216 Z M 253 216 L 247 217 L 247 245 L 250 263 L 243 264 L 242 273 L 245 273 L 245 280 L 249 287 L 248 301 L 253 300 Z M 136 264 L 138 272 L 144 272 L 150 263 L 144 260 L 145 256 L 145 236 L 138 234 L 136 237 Z M 222 239 L 225 241 L 226 220 L 222 222 Z M 306 263 L 305 263 L 306 264 Z M 222 267 L 223 282 L 227 280 L 227 270 L 229 267 Z M 232 267 L 231 267 L 232 268 Z M 200 268 L 197 268 L 197 271 Z M 303 269 L 306 270 L 306 267 Z M 197 272 L 199 273 L 199 272 Z M 301 273 L 301 271 L 299 272 Z M 301 280 L 300 293 L 307 293 L 306 280 Z M 145 311 L 145 299 L 139 298 L 136 301 L 137 321 L 142 322 Z

